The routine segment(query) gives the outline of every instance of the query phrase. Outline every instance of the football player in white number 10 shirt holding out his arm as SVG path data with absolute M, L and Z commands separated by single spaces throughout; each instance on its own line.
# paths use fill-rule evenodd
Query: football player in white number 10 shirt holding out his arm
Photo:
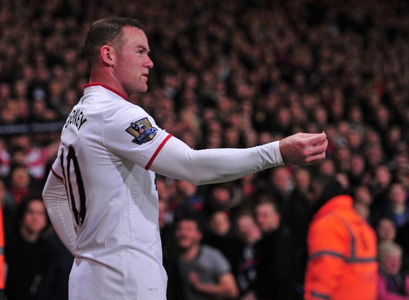
M 138 20 L 110 17 L 85 40 L 89 84 L 61 133 L 43 197 L 75 256 L 70 299 L 166 299 L 155 173 L 206 184 L 324 159 L 325 133 L 298 133 L 248 149 L 195 151 L 141 107 L 149 45 Z

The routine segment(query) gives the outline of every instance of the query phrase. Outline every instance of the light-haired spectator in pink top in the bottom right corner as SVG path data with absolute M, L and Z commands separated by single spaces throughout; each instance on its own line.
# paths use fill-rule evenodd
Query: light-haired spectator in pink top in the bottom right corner
M 378 300 L 408 300 L 409 276 L 401 272 L 402 248 L 392 242 L 379 245 Z

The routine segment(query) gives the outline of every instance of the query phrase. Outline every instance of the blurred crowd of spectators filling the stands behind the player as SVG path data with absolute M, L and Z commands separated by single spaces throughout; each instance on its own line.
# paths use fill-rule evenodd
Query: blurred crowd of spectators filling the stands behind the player
M 203 187 L 157 176 L 169 299 L 278 299 L 280 289 L 302 299 L 315 176 L 332 176 L 349 191 L 378 243 L 386 242 L 381 271 L 389 256 L 397 257 L 404 282 L 409 3 L 4 0 L 0 127 L 65 120 L 88 82 L 85 35 L 94 20 L 110 15 L 147 25 L 154 68 L 147 93 L 129 101 L 190 147 L 247 148 L 301 131 L 325 130 L 329 140 L 327 159 L 307 168 L 283 166 Z M 72 257 L 40 195 L 58 139 L 59 132 L 0 137 L 9 299 L 66 297 Z M 232 274 L 230 293 L 200 292 L 200 279 L 176 247 L 197 242 L 219 262 L 205 268 L 209 278 Z M 382 287 L 408 299 L 404 284 L 402 290 L 388 276 Z

